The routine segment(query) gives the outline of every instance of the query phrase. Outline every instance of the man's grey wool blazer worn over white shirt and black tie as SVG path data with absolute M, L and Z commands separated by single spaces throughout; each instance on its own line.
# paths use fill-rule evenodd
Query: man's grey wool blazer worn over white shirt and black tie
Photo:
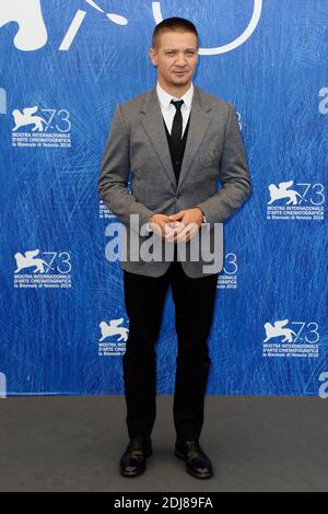
M 177 185 L 156 87 L 115 109 L 98 192 L 126 227 L 133 225 L 131 233 L 127 231 L 127 252 L 121 254 L 121 266 L 127 271 L 149 277 L 164 274 L 173 258 L 173 243 L 144 232 L 145 224 L 154 213 L 168 215 L 194 207 L 203 211 L 207 223 L 187 244 L 177 245 L 184 271 L 191 278 L 221 271 L 223 222 L 250 195 L 251 183 L 234 106 L 194 87 L 189 132 Z M 155 254 L 150 260 L 140 253 L 141 258 L 136 257 L 133 245 L 139 248 L 149 244 L 150 248 L 155 238 L 161 242 L 162 256 Z M 190 248 L 195 238 L 199 242 L 198 250 L 197 245 Z

